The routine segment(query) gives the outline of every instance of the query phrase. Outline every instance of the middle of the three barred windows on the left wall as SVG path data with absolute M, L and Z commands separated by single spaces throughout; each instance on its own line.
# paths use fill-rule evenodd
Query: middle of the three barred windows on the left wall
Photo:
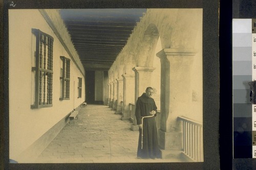
M 70 59 L 60 56 L 62 68 L 60 72 L 60 100 L 70 99 Z

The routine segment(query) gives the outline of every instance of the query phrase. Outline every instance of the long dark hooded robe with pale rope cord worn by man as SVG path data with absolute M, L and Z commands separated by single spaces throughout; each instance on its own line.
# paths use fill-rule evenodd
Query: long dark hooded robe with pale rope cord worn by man
M 135 116 L 137 125 L 141 124 L 142 116 L 150 116 L 150 112 L 153 110 L 157 111 L 157 106 L 154 99 L 147 97 L 146 94 L 143 93 L 136 102 Z M 158 147 L 158 135 L 155 116 L 143 118 L 143 143 L 141 143 L 142 130 L 139 129 L 137 156 L 140 158 L 161 158 L 161 152 Z M 143 144 L 142 149 L 141 144 Z

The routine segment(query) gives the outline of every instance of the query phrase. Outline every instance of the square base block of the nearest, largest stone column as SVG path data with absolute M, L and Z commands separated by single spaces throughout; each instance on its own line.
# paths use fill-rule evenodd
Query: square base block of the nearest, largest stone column
M 159 146 L 165 150 L 181 151 L 182 149 L 182 132 L 164 132 L 158 130 Z

